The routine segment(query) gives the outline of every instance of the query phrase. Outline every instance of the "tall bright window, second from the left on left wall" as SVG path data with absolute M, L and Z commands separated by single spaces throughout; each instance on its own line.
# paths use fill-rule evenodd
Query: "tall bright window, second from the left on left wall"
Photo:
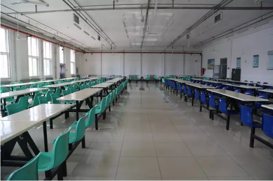
M 40 75 L 39 66 L 39 43 L 38 39 L 28 37 L 28 68 L 29 77 Z

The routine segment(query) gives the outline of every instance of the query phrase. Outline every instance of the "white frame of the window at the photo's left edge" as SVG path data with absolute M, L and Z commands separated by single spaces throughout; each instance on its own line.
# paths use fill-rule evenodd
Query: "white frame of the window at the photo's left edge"
M 11 60 L 10 60 L 10 47 L 9 47 L 9 30 L 2 28 L 5 31 L 4 43 L 5 43 L 5 52 L 0 52 L 0 55 L 6 55 L 7 57 L 7 77 L 1 77 L 1 79 L 11 79 Z

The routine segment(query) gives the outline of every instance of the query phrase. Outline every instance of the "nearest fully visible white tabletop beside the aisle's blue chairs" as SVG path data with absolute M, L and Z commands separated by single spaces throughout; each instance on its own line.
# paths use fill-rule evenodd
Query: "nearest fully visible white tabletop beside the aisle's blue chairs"
M 213 90 L 209 90 L 215 93 L 219 93 L 228 97 L 232 97 L 238 100 L 242 100 L 242 101 L 269 101 L 268 99 L 263 99 L 260 97 L 255 97 L 252 95 L 246 95 L 243 93 L 239 93 L 239 92 L 234 92 L 231 90 L 223 90 L 223 89 L 213 89 Z

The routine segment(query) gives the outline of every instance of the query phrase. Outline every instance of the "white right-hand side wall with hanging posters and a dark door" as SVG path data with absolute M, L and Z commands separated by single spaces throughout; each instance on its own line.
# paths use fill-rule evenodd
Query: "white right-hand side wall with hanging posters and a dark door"
M 242 35 L 221 39 L 203 49 L 203 68 L 205 76 L 212 77 L 213 70 L 207 70 L 207 59 L 214 58 L 215 65 L 220 58 L 227 58 L 227 78 L 231 69 L 236 68 L 236 59 L 241 57 L 241 80 L 273 83 L 273 70 L 267 70 L 268 51 L 273 51 L 273 23 L 250 29 Z M 239 37 L 240 36 L 240 37 Z M 214 51 L 213 51 L 214 47 Z M 253 55 L 259 55 L 259 67 L 253 68 Z

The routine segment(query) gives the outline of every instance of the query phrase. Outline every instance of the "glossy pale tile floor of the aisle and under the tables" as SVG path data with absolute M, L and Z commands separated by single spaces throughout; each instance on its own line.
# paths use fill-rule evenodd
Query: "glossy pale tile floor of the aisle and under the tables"
M 74 120 L 71 113 L 48 127 L 51 149 Z M 273 150 L 257 140 L 250 148 L 250 129 L 240 126 L 238 116 L 226 131 L 223 120 L 210 120 L 197 102 L 192 107 L 161 85 L 129 84 L 99 128 L 86 130 L 86 148 L 79 146 L 68 159 L 65 180 L 273 180 Z M 30 131 L 43 150 L 41 133 L 42 127 Z M 1 167 L 1 180 L 14 169 Z

